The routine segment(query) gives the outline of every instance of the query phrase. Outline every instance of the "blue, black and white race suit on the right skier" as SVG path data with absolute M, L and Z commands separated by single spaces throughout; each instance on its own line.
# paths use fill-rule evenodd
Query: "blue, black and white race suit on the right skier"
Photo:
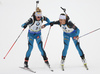
M 80 48 L 79 41 L 74 39 L 74 37 L 79 36 L 80 30 L 71 21 L 67 20 L 66 24 L 62 24 L 62 25 L 60 25 L 59 21 L 53 21 L 53 22 L 50 22 L 49 24 L 45 24 L 45 26 L 50 25 L 50 24 L 52 24 L 52 25 L 58 24 L 63 30 L 64 49 L 63 49 L 63 52 L 62 52 L 62 57 L 66 57 L 67 50 L 68 50 L 68 47 L 69 47 L 70 38 L 72 38 L 72 40 L 73 40 L 73 42 L 74 42 L 74 44 L 75 44 L 75 46 L 76 46 L 76 48 L 79 52 L 79 55 L 81 57 L 84 56 L 84 53 Z

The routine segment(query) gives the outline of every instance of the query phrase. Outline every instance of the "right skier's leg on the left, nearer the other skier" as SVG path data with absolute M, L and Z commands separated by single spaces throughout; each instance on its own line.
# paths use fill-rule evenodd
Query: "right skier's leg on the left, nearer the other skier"
M 66 35 L 65 33 L 63 35 L 64 35 L 64 49 L 63 49 L 62 58 L 61 58 L 62 70 L 64 70 L 64 62 L 65 62 L 65 58 L 66 58 L 66 54 L 67 54 L 67 50 L 68 50 L 68 46 L 70 42 L 70 36 Z

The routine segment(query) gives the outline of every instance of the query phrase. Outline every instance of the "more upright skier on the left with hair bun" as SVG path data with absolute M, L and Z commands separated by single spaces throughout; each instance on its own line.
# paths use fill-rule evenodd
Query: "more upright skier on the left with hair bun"
M 29 61 L 29 57 L 31 55 L 31 51 L 33 49 L 34 39 L 36 39 L 38 48 L 41 52 L 41 55 L 42 55 L 45 63 L 49 65 L 48 58 L 43 49 L 43 43 L 41 40 L 41 25 L 42 25 L 43 21 L 50 23 L 50 20 L 47 17 L 45 17 L 45 16 L 42 17 L 41 9 L 39 9 L 39 7 L 37 7 L 36 12 L 33 13 L 32 17 L 27 22 L 22 24 L 23 28 L 26 28 L 29 25 L 28 51 L 26 53 L 24 67 L 28 67 L 28 61 Z

